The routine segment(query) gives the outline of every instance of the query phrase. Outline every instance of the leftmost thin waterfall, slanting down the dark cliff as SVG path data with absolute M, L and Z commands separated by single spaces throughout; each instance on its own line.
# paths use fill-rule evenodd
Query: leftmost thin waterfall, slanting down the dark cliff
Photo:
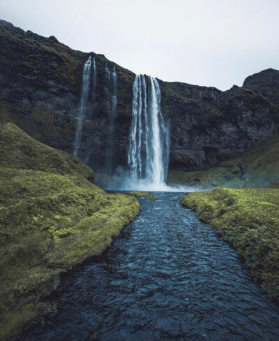
M 91 73 L 91 56 L 84 64 L 83 76 L 82 76 L 82 94 L 80 96 L 80 111 L 77 116 L 77 130 L 75 131 L 75 143 L 73 154 L 77 157 L 80 149 L 80 141 L 82 138 L 82 125 L 84 120 L 84 114 L 86 111 L 86 103 L 88 99 L 89 86 L 90 86 L 90 73 Z

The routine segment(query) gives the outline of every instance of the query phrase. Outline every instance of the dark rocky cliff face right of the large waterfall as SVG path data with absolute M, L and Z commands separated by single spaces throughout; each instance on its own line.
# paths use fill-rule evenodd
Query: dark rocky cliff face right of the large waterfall
M 177 82 L 160 86 L 163 112 L 171 118 L 172 168 L 193 170 L 216 164 L 278 131 L 278 107 L 250 89 L 221 92 Z

